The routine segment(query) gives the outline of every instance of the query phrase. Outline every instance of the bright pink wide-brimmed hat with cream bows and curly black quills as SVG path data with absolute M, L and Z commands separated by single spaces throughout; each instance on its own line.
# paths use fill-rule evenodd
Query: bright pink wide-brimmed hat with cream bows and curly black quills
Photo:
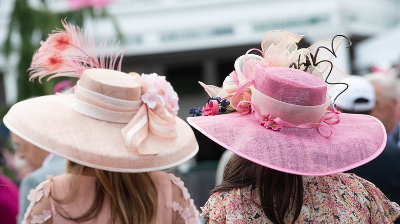
M 373 160 L 386 145 L 383 124 L 335 111 L 327 94 L 346 75 L 328 55 L 318 56 L 325 48 L 317 46 L 335 55 L 337 39 L 297 50 L 291 43 L 299 39 L 269 32 L 263 57 L 239 57 L 222 88 L 201 83 L 211 98 L 202 110 L 191 110 L 189 124 L 237 155 L 286 173 L 328 175 Z

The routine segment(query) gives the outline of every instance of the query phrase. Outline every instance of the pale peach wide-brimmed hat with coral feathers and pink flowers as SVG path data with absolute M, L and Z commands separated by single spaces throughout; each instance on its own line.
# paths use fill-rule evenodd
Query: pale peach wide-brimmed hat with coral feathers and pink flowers
M 178 96 L 165 76 L 123 73 L 124 50 L 106 51 L 107 39 L 96 49 L 93 34 L 65 19 L 62 25 L 41 41 L 29 75 L 39 82 L 76 77 L 74 94 L 16 103 L 3 119 L 11 131 L 72 162 L 115 172 L 163 170 L 197 153 L 191 127 L 176 117 Z

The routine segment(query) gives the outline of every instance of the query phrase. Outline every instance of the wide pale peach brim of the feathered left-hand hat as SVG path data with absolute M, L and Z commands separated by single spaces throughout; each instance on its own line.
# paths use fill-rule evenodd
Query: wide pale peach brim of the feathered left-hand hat
M 159 139 L 151 133 L 139 147 L 157 151 L 143 155 L 125 145 L 126 124 L 96 120 L 72 108 L 73 97 L 51 95 L 14 104 L 4 124 L 17 136 L 72 162 L 114 172 L 148 172 L 180 165 L 198 145 L 191 127 L 176 117 L 177 137 Z

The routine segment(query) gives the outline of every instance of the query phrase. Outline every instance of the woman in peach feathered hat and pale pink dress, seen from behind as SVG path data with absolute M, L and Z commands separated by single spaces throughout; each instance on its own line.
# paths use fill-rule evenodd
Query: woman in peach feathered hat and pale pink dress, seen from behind
M 198 151 L 171 84 L 112 70 L 122 52 L 99 60 L 92 37 L 63 25 L 33 56 L 31 78 L 79 77 L 74 94 L 24 100 L 4 117 L 15 135 L 68 160 L 65 174 L 30 191 L 23 223 L 198 223 L 184 183 L 160 171 Z

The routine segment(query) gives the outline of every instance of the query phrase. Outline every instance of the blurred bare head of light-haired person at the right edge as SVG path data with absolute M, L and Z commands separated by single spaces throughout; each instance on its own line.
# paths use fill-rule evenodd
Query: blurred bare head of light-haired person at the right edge
M 397 121 L 398 82 L 382 73 L 365 75 L 375 89 L 375 107 L 370 115 L 379 119 L 388 133 L 388 142 L 400 147 L 400 130 Z

